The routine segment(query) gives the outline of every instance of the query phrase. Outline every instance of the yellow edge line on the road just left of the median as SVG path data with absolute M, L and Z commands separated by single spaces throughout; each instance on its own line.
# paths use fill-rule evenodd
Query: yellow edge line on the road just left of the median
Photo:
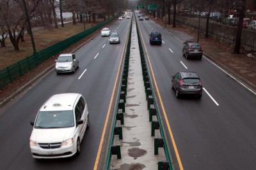
M 125 45 L 127 44 L 127 38 L 128 38 L 128 34 L 129 32 L 127 32 L 126 34 L 126 38 L 125 38 Z M 104 128 L 103 128 L 103 132 L 102 132 L 102 136 L 101 136 L 101 139 L 100 139 L 100 145 L 99 145 L 99 150 L 98 150 L 98 153 L 97 153 L 97 157 L 96 157 L 96 160 L 95 160 L 95 164 L 94 164 L 94 167 L 93 167 L 93 170 L 96 170 L 97 167 L 98 167 L 98 164 L 99 164 L 99 159 L 100 159 L 100 152 L 102 150 L 102 145 L 103 145 L 103 142 L 104 142 L 104 136 L 106 134 L 106 128 L 107 128 L 107 125 L 108 125 L 108 119 L 109 119 L 109 115 L 110 115 L 110 111 L 111 111 L 111 107 L 112 107 L 112 104 L 113 104 L 113 98 L 114 98 L 114 94 L 115 94 L 115 89 L 116 89 L 116 85 L 117 85 L 117 80 L 118 80 L 118 75 L 120 73 L 120 70 L 122 69 L 122 60 L 124 58 L 124 50 L 125 50 L 125 45 L 124 45 L 124 48 L 123 48 L 123 52 L 122 52 L 122 57 L 121 57 L 121 60 L 120 60 L 120 64 L 119 64 L 119 68 L 118 68 L 118 72 L 116 74 L 116 80 L 115 80 L 115 85 L 113 87 L 113 92 L 112 92 L 112 95 L 111 95 L 111 99 L 110 99 L 110 103 L 109 103 L 109 107 L 108 107 L 108 114 L 107 114 L 107 117 L 106 117 L 106 120 L 105 120 L 105 124 L 104 124 Z

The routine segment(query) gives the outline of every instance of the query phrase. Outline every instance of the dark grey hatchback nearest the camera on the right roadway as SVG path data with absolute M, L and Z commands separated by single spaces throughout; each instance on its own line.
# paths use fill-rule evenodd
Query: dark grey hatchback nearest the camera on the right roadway
M 172 89 L 175 90 L 177 98 L 183 94 L 193 94 L 201 99 L 203 85 L 198 74 L 191 71 L 182 71 L 172 76 Z

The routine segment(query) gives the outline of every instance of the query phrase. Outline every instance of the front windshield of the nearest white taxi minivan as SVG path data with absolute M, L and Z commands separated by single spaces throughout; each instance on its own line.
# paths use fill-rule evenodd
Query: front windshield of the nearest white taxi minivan
M 68 111 L 40 111 L 36 118 L 35 128 L 51 129 L 74 126 L 72 110 Z

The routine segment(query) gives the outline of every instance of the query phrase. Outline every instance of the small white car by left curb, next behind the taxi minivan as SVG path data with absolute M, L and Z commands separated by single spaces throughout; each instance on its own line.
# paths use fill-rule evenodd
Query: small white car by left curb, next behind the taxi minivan
M 56 61 L 55 71 L 56 73 L 75 73 L 79 67 L 79 61 L 74 53 L 63 53 Z

